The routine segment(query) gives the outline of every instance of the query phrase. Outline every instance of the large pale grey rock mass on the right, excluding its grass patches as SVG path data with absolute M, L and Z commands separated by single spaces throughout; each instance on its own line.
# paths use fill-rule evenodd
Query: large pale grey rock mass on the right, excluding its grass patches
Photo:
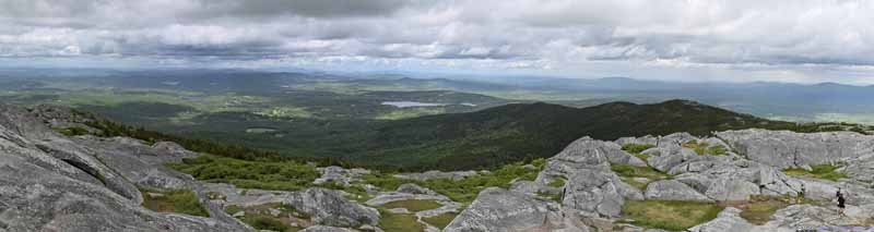
M 623 145 L 647 145 L 638 156 Z M 706 146 L 696 150 L 694 146 Z M 719 155 L 707 154 L 725 148 Z M 704 154 L 699 154 L 704 150 Z M 646 157 L 641 160 L 639 157 Z M 670 180 L 647 180 L 633 187 L 611 166 L 649 168 Z M 812 170 L 834 164 L 838 180 L 789 175 L 784 169 Z M 548 159 L 536 181 L 510 190 L 482 192 L 446 231 L 660 231 L 626 223 L 627 200 L 678 200 L 728 205 L 716 219 L 688 231 L 795 231 L 799 228 L 869 227 L 874 230 L 874 136 L 854 132 L 793 133 L 743 130 L 695 137 L 686 133 L 663 137 L 626 137 L 615 142 L 580 138 Z M 551 186 L 555 180 L 564 186 Z M 835 203 L 840 190 L 843 213 Z M 556 193 L 558 202 L 538 193 Z M 767 222 L 740 217 L 753 198 L 804 198 L 778 209 Z M 864 230 L 863 228 L 858 228 Z

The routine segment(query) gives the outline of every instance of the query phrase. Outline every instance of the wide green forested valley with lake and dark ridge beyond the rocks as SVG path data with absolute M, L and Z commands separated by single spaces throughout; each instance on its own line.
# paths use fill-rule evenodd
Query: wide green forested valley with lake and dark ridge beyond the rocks
M 420 171 L 494 169 L 547 158 L 581 136 L 706 135 L 751 127 L 871 131 L 862 124 L 796 124 L 696 101 L 659 101 L 671 95 L 658 93 L 674 93 L 676 86 L 616 77 L 566 85 L 534 78 L 536 84 L 517 86 L 247 70 L 70 72 L 0 78 L 7 83 L 0 100 L 69 106 L 128 125 L 286 157 Z M 675 96 L 696 96 L 688 94 Z M 503 95 L 515 97 L 494 97 Z

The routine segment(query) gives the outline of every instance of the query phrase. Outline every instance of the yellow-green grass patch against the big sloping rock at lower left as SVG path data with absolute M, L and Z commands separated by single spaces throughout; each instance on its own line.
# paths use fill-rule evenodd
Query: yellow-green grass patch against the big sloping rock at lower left
M 190 190 L 169 192 L 141 190 L 141 192 L 143 193 L 143 207 L 153 211 L 210 217 L 206 208 L 203 208 L 198 196 Z

